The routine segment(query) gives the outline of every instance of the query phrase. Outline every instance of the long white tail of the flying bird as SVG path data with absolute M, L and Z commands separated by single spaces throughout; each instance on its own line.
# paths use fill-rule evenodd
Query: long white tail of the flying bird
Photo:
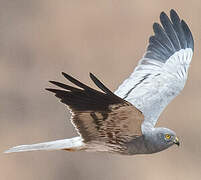
M 5 153 L 38 151 L 38 150 L 67 150 L 78 151 L 84 149 L 85 144 L 81 137 L 44 142 L 39 144 L 21 145 L 8 149 Z

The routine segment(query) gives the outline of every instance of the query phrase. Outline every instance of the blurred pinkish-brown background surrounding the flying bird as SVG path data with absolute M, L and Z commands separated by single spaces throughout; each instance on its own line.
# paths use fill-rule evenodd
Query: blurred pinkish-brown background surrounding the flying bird
M 128 77 L 159 14 L 174 8 L 191 28 L 195 54 L 184 91 L 161 115 L 176 146 L 153 155 L 0 154 L 2 180 L 189 180 L 201 178 L 201 1 L 0 0 L 0 152 L 76 135 L 65 106 L 44 90 L 95 73 L 112 90 Z

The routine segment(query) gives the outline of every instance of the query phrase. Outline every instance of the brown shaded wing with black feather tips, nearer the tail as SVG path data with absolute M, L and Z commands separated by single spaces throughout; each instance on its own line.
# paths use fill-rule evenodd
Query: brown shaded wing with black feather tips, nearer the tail
M 113 94 L 93 74 L 91 79 L 104 92 L 94 90 L 62 73 L 79 88 L 50 81 L 60 89 L 50 89 L 72 112 L 72 123 L 85 142 L 119 145 L 142 135 L 142 113 L 129 102 Z M 123 146 L 123 145 L 122 145 Z

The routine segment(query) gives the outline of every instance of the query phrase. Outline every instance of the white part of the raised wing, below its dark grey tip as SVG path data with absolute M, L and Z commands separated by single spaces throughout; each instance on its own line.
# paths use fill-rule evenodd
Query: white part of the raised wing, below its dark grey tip
M 192 49 L 186 48 L 175 52 L 165 63 L 142 58 L 115 94 L 144 114 L 146 126 L 155 126 L 163 109 L 184 88 L 192 55 Z

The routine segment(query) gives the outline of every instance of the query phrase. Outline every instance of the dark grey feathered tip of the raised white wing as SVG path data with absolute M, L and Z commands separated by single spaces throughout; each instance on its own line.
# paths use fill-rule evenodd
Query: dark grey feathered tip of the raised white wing
M 180 49 L 194 49 L 191 31 L 174 9 L 170 10 L 170 17 L 162 11 L 160 22 L 153 24 L 154 36 L 149 39 L 145 58 L 164 63 Z

